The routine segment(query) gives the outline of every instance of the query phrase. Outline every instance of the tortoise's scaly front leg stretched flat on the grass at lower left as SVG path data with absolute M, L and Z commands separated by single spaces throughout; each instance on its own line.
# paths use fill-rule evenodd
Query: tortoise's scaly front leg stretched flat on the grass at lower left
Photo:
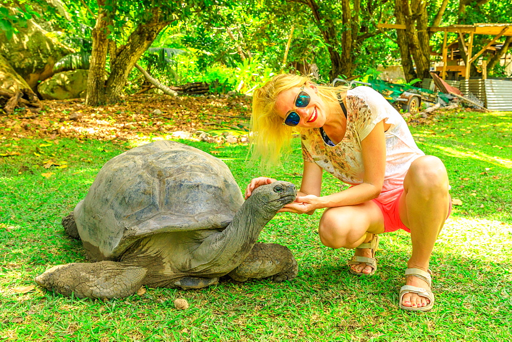
M 40 286 L 77 298 L 122 298 L 143 284 L 146 269 L 114 261 L 58 265 L 37 276 Z

